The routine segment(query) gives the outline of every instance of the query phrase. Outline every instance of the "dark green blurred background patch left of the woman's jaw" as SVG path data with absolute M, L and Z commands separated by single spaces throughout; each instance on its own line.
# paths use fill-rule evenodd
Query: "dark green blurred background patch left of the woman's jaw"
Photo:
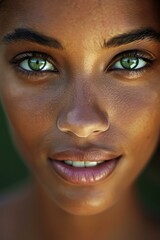
M 0 105 L 0 192 L 21 184 L 28 175 L 28 170 L 10 138 L 7 121 Z

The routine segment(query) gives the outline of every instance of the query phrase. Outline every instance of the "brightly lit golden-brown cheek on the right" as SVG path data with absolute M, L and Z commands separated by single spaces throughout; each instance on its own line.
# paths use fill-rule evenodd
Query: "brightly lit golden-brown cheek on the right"
M 137 170 L 150 159 L 160 136 L 160 91 L 151 89 L 149 85 L 123 88 L 114 102 L 115 132 L 131 168 L 134 165 Z

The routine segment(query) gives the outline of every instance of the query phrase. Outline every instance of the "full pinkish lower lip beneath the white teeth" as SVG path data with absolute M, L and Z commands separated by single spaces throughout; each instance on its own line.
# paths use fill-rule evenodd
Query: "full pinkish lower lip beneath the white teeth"
M 105 161 L 95 167 L 72 167 L 63 161 L 50 160 L 56 173 L 73 184 L 93 184 L 108 177 L 119 161 L 120 157 Z

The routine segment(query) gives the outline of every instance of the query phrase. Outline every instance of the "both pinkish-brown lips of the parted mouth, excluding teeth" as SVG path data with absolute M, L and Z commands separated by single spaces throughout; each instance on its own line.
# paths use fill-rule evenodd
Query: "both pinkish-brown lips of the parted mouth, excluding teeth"
M 76 185 L 94 184 L 106 179 L 116 168 L 122 155 L 115 152 L 89 149 L 82 151 L 70 149 L 57 152 L 49 156 L 48 160 L 53 170 L 64 180 Z M 64 161 L 91 161 L 100 162 L 94 167 L 73 167 L 64 163 Z

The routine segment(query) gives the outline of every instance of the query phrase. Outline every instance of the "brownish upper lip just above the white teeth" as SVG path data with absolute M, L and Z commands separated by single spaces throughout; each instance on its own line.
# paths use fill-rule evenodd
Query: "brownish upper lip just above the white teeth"
M 49 156 L 49 159 L 60 161 L 109 161 L 119 158 L 121 155 L 104 149 L 89 149 L 87 151 L 79 149 L 69 149 L 62 152 L 56 152 Z

